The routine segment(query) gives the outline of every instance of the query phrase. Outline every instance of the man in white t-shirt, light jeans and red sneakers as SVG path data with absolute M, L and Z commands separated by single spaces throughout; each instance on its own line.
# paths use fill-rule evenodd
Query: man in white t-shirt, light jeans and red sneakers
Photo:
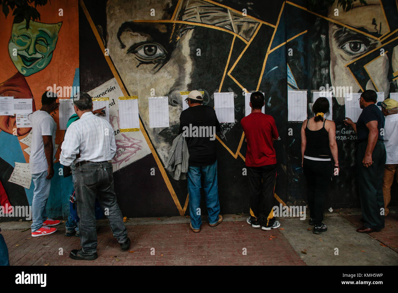
M 29 114 L 32 123 L 32 145 L 29 158 L 30 173 L 32 174 L 32 237 L 52 234 L 57 231 L 54 226 L 59 220 L 47 218 L 46 204 L 50 195 L 51 178 L 54 176 L 55 131 L 57 124 L 50 115 L 58 108 L 57 95 L 45 92 L 41 96 L 41 108 Z

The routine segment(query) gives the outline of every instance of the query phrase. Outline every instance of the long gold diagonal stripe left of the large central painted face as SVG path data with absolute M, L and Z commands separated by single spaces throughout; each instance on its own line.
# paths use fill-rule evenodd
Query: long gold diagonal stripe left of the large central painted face
M 97 29 L 96 29 L 96 26 L 95 26 L 90 14 L 89 14 L 87 8 L 86 8 L 86 6 L 84 5 L 83 0 L 80 0 L 79 3 L 80 3 L 80 7 L 82 8 L 84 14 L 86 15 L 87 21 L 89 22 L 93 33 L 94 33 L 94 35 L 95 35 L 95 37 L 97 39 L 98 45 L 100 46 L 101 50 L 104 52 L 105 51 L 105 47 L 104 47 L 104 45 L 102 43 L 101 37 L 100 37 L 100 35 L 99 35 L 99 33 L 98 33 Z M 119 73 L 117 72 L 115 66 L 113 65 L 113 62 L 112 62 L 111 58 L 109 56 L 105 56 L 105 60 L 107 61 L 108 65 L 109 65 L 109 69 L 111 69 L 111 71 L 113 73 L 113 76 L 117 80 L 117 83 L 119 84 L 119 87 L 122 90 L 123 94 L 125 96 L 130 96 L 130 94 L 127 92 L 126 88 L 124 87 L 123 82 L 121 81 L 121 78 L 119 76 Z M 179 212 L 179 214 L 181 216 L 183 216 L 185 214 L 185 210 L 186 209 L 183 210 L 183 208 L 181 207 L 181 204 L 179 203 L 179 200 L 177 198 L 176 192 L 174 191 L 173 186 L 172 186 L 169 178 L 167 177 L 166 170 L 164 169 L 162 163 L 160 162 L 158 154 L 156 153 L 156 151 L 155 151 L 155 149 L 154 149 L 154 147 L 152 145 L 152 142 L 149 139 L 148 133 L 146 132 L 144 126 L 142 125 L 141 118 L 140 118 L 140 130 L 142 132 L 142 135 L 145 138 L 146 143 L 148 144 L 148 147 L 149 147 L 149 149 L 150 149 L 150 151 L 151 151 L 151 153 L 152 153 L 152 155 L 153 155 L 153 157 L 154 157 L 154 159 L 156 161 L 156 164 L 158 165 L 160 173 L 162 174 L 164 182 L 166 183 L 166 186 L 167 186 L 167 188 L 168 188 L 168 190 L 170 192 L 170 195 L 172 196 L 172 199 L 173 199 L 173 201 L 174 201 L 174 203 L 175 203 L 175 205 L 176 205 L 176 207 L 178 209 L 178 212 Z

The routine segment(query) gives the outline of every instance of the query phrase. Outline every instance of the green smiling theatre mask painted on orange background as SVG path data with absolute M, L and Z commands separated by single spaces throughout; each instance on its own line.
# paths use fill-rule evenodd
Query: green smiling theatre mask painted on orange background
M 12 25 L 8 53 L 22 75 L 32 75 L 50 63 L 61 25 L 62 22 L 44 24 L 30 21 L 29 29 L 26 29 L 25 20 Z

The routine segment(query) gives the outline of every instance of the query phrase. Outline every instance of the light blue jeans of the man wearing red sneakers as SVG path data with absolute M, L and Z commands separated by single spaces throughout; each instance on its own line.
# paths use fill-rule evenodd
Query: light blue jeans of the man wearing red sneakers
M 32 200 L 32 233 L 39 230 L 43 226 L 43 222 L 47 219 L 46 204 L 50 195 L 51 179 L 46 179 L 47 171 L 32 174 L 33 190 Z

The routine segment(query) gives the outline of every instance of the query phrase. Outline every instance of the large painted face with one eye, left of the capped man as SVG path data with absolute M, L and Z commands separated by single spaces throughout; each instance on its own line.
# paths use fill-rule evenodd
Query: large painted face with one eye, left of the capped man
M 191 58 L 196 52 L 189 45 L 192 29 L 161 22 L 172 18 L 173 9 L 171 0 L 109 1 L 106 9 L 109 55 L 129 94 L 138 95 L 140 117 L 164 163 L 178 134 L 179 92 L 193 89 L 189 87 Z M 149 128 L 148 97 L 152 92 L 169 97 L 169 128 Z

